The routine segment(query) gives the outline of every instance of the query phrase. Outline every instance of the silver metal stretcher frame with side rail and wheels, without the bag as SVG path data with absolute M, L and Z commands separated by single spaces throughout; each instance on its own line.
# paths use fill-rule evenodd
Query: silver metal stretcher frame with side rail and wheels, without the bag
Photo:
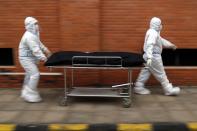
M 79 64 L 75 63 L 76 59 L 85 58 L 87 63 Z M 89 63 L 88 59 L 104 59 L 105 63 L 101 65 L 93 65 Z M 116 65 L 110 65 L 108 59 L 119 59 L 120 63 Z M 123 107 L 130 107 L 133 101 L 133 83 L 132 83 L 132 70 L 140 69 L 141 67 L 123 67 L 122 58 L 119 56 L 74 56 L 72 57 L 72 65 L 66 66 L 48 66 L 50 68 L 62 68 L 64 69 L 64 98 L 60 100 L 60 105 L 68 105 L 68 97 L 114 97 L 121 98 Z M 66 72 L 68 69 L 72 70 L 71 87 L 67 87 Z M 128 83 L 114 85 L 112 87 L 74 87 L 73 84 L 73 70 L 74 69 L 101 69 L 101 70 L 128 70 Z

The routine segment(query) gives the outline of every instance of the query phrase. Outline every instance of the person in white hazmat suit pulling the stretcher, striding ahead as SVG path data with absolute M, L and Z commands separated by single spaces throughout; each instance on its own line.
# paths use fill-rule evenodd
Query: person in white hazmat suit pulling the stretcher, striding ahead
M 141 70 L 134 87 L 137 94 L 150 94 L 150 90 L 144 84 L 152 74 L 163 87 L 165 95 L 178 95 L 179 87 L 173 87 L 166 76 L 161 57 L 162 48 L 176 49 L 176 46 L 160 36 L 162 29 L 161 20 L 153 17 L 150 21 L 150 28 L 146 32 L 144 40 L 143 58 L 146 61 L 145 67 Z

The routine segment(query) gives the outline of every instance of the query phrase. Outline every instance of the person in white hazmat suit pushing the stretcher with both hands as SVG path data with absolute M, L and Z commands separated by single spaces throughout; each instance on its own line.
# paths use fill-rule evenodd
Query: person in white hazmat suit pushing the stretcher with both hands
M 26 72 L 21 97 L 27 102 L 40 102 L 42 99 L 37 90 L 40 72 L 37 65 L 39 60 L 47 61 L 51 52 L 40 41 L 38 21 L 26 17 L 24 23 L 26 32 L 19 44 L 19 61 Z

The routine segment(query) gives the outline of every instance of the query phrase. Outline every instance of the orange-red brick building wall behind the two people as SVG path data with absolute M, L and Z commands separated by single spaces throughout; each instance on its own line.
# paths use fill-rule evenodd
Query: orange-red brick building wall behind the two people
M 52 51 L 128 51 L 141 53 L 144 35 L 153 16 L 163 21 L 161 35 L 178 48 L 197 47 L 196 0 L 0 0 L 0 48 L 13 48 L 14 68 L 21 72 L 18 44 L 24 19 L 34 16 L 41 26 L 41 40 Z M 2 56 L 0 56 L 1 59 Z M 41 71 L 49 71 L 40 64 Z M 54 69 L 53 71 L 61 71 Z M 77 70 L 79 85 L 116 84 L 127 81 L 125 71 Z M 133 72 L 136 79 L 139 70 Z M 196 85 L 197 70 L 167 70 L 175 85 Z M 70 72 L 68 80 L 70 84 Z M 42 76 L 41 86 L 62 87 L 63 77 Z M 0 76 L 0 87 L 20 87 L 23 76 Z M 53 83 L 53 84 L 51 84 Z M 154 78 L 148 84 L 158 85 Z

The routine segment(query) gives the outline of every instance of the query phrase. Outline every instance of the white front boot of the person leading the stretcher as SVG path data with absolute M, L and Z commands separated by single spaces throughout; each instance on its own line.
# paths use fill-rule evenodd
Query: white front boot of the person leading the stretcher
M 164 89 L 164 94 L 167 96 L 176 96 L 180 94 L 179 87 L 173 87 L 172 84 L 168 84 Z

